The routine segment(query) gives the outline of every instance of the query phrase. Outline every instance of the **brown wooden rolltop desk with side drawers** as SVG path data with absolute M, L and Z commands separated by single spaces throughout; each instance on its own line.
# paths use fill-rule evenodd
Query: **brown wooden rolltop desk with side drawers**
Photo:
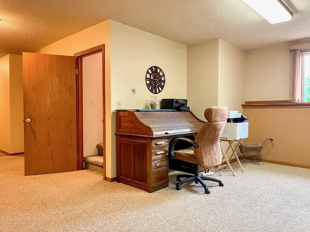
M 117 181 L 154 192 L 169 185 L 171 139 L 196 135 L 203 121 L 190 111 L 116 111 Z

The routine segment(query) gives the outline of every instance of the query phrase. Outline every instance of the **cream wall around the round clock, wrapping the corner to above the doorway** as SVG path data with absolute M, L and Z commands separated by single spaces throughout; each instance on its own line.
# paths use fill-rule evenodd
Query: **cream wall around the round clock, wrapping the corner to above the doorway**
M 122 108 L 149 108 L 150 96 L 145 73 L 159 66 L 166 75 L 162 98 L 186 98 L 186 45 L 108 20 L 52 43 L 39 53 L 70 55 L 99 44 L 105 44 L 106 91 L 106 174 L 116 176 L 115 112 L 117 102 Z M 111 64 L 111 66 L 110 66 Z M 136 94 L 131 94 L 136 87 Z M 159 108 L 159 107 L 158 107 Z

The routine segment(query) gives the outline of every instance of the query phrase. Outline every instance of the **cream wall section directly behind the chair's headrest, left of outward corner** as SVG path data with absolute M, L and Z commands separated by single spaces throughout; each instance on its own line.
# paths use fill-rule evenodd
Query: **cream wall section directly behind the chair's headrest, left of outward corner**
M 218 46 L 218 39 L 187 46 L 187 103 L 202 120 L 218 102 Z

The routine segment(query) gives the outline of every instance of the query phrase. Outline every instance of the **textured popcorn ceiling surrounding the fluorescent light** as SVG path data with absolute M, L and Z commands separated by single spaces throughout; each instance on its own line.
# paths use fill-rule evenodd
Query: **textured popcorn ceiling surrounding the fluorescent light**
M 283 1 L 294 17 L 271 25 L 242 0 L 0 0 L 0 57 L 108 19 L 183 44 L 219 38 L 248 50 L 310 39 L 310 0 Z

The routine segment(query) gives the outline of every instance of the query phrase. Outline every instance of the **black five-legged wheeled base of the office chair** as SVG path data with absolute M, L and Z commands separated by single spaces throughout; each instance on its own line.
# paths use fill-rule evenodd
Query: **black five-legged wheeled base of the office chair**
M 181 180 L 181 178 L 186 178 L 186 179 Z M 221 180 L 213 178 L 213 177 L 203 176 L 201 173 L 199 173 L 198 175 L 181 174 L 181 175 L 176 176 L 176 181 L 179 181 L 178 183 L 176 183 L 176 190 L 181 189 L 180 185 L 183 185 L 193 180 L 195 180 L 195 184 L 198 184 L 199 182 L 202 185 L 202 187 L 204 188 L 204 192 L 206 194 L 209 194 L 210 190 L 208 189 L 207 185 L 203 182 L 203 180 L 214 181 L 214 182 L 217 182 L 219 186 L 221 187 L 224 186 Z

